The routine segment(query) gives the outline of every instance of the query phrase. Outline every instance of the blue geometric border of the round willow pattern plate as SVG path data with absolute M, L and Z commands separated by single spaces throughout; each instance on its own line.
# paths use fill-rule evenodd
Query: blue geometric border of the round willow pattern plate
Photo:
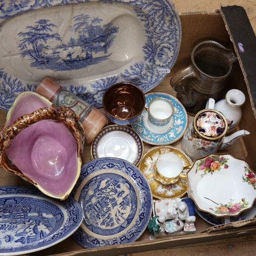
M 92 174 L 97 174 L 102 170 L 115 170 L 120 173 L 123 173 L 129 176 L 131 179 L 134 180 L 134 183 L 138 189 L 138 209 L 137 209 L 137 219 L 134 220 L 134 225 L 130 225 L 126 233 L 122 233 L 122 236 L 113 236 L 108 239 L 108 236 L 105 236 L 105 239 L 100 237 L 92 236 L 91 234 L 87 233 L 83 228 L 78 228 L 76 232 L 73 234 L 73 238 L 82 246 L 86 248 L 93 248 L 99 246 L 107 246 L 107 245 L 114 245 L 114 244 L 121 244 L 121 243 L 129 243 L 136 241 L 140 234 L 145 230 L 147 227 L 148 221 L 151 218 L 152 212 L 152 193 L 150 186 L 148 185 L 146 178 L 140 172 L 140 170 L 133 164 L 129 163 L 126 160 L 121 160 L 119 158 L 114 157 L 106 157 L 106 158 L 99 158 L 92 160 L 81 167 L 81 174 L 80 177 L 72 191 L 71 196 L 76 198 L 79 196 L 79 200 L 83 200 L 82 191 L 81 194 L 76 195 L 76 191 L 83 186 L 83 188 L 87 187 L 87 184 L 83 184 L 85 179 L 88 179 Z M 93 179 L 97 179 L 95 176 Z M 121 224 L 122 225 L 122 224 Z

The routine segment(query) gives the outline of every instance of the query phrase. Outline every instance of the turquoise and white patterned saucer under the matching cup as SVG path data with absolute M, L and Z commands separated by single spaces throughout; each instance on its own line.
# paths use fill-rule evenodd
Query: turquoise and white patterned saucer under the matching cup
M 172 144 L 179 140 L 186 131 L 188 123 L 187 112 L 177 98 L 162 92 L 145 94 L 145 107 L 147 108 L 148 104 L 157 97 L 169 99 L 174 105 L 174 114 L 169 124 L 163 129 L 154 129 L 152 125 L 150 125 L 150 121 L 148 121 L 147 112 L 143 110 L 138 121 L 132 123 L 132 127 L 144 142 L 152 145 Z

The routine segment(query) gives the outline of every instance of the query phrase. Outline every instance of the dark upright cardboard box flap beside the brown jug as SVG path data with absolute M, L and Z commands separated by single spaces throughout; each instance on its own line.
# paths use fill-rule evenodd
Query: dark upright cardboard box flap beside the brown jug
M 237 53 L 252 110 L 256 117 L 256 37 L 246 11 L 241 6 L 221 6 L 220 13 Z

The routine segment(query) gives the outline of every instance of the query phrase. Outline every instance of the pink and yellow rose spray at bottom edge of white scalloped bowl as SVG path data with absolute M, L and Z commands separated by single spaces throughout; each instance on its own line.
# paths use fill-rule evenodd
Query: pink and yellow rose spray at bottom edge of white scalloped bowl
M 220 206 L 216 206 L 215 209 L 209 209 L 214 211 L 217 215 L 235 215 L 237 212 L 247 208 L 247 206 L 248 202 L 245 201 L 245 198 L 242 198 L 238 203 L 233 203 L 233 200 L 230 200 L 227 204 L 220 204 Z

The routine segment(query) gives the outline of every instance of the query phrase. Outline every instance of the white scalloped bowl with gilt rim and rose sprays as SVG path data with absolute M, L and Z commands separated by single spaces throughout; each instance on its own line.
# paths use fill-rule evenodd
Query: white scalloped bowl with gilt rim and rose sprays
M 187 172 L 187 191 L 199 210 L 216 217 L 239 216 L 256 200 L 256 175 L 230 154 L 209 154 Z

